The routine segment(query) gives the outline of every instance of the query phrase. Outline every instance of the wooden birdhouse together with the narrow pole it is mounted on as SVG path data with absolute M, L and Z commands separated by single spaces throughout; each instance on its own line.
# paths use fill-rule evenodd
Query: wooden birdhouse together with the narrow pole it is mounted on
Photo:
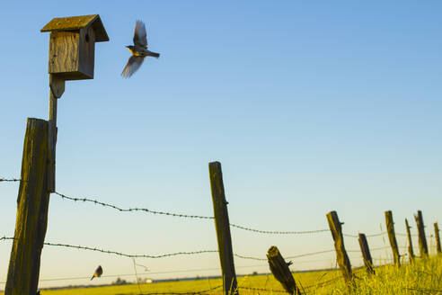
M 49 36 L 49 192 L 55 192 L 57 99 L 65 92 L 66 80 L 93 79 L 95 42 L 108 41 L 98 14 L 60 17 L 41 31 Z

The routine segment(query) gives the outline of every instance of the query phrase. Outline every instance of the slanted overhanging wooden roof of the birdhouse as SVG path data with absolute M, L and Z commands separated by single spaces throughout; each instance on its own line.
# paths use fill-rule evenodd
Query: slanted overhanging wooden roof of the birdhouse
M 108 33 L 104 30 L 100 15 L 81 15 L 71 17 L 56 17 L 48 22 L 40 31 L 77 31 L 93 26 L 95 41 L 109 41 Z

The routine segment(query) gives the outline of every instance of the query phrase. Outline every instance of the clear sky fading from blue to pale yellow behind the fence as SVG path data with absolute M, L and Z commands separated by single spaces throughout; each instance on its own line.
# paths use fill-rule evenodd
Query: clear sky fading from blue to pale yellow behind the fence
M 346 233 L 369 234 L 393 210 L 403 233 L 403 219 L 414 230 L 412 214 L 422 210 L 430 234 L 442 222 L 441 9 L 437 1 L 7 1 L 0 177 L 20 177 L 26 118 L 48 118 L 49 33 L 40 29 L 53 17 L 99 13 L 110 41 L 96 44 L 95 78 L 67 82 L 58 102 L 58 192 L 212 215 L 208 162 L 219 160 L 233 223 L 327 228 L 325 214 L 337 210 Z M 123 79 L 138 19 L 161 58 Z M 17 189 L 0 183 L 0 236 L 13 236 Z M 232 235 L 240 255 L 264 258 L 272 245 L 286 256 L 332 249 L 330 233 Z M 56 195 L 46 241 L 130 254 L 217 249 L 211 220 L 122 214 Z M 357 240 L 346 246 L 358 249 Z M 0 282 L 10 250 L 0 243 Z M 333 257 L 292 268 L 329 267 Z M 137 263 L 154 279 L 219 273 L 155 274 L 218 268 L 216 254 Z M 45 246 L 40 278 L 87 277 L 98 264 L 104 274 L 133 273 L 127 258 Z M 265 262 L 235 264 L 237 273 L 268 271 Z M 69 283 L 88 281 L 40 286 Z

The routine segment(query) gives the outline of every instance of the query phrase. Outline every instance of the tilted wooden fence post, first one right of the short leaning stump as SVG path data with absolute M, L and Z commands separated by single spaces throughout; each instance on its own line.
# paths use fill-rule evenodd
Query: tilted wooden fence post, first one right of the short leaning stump
M 336 249 L 336 259 L 340 265 L 340 270 L 344 275 L 345 281 L 351 282 L 351 264 L 349 262 L 349 255 L 347 255 L 347 251 L 345 251 L 344 237 L 342 237 L 342 224 L 338 218 L 338 213 L 336 213 L 336 211 L 329 212 L 327 214 L 327 220 L 329 222 L 330 230 L 332 231 L 334 247 Z

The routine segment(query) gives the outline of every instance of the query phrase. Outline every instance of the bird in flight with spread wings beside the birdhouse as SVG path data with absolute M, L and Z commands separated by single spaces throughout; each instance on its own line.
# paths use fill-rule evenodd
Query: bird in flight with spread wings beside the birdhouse
M 135 24 L 134 45 L 126 46 L 126 48 L 132 53 L 132 56 L 128 59 L 128 64 L 121 73 L 121 76 L 126 78 L 132 76 L 141 67 L 146 57 L 160 57 L 159 53 L 147 50 L 146 26 L 141 21 L 137 21 Z

